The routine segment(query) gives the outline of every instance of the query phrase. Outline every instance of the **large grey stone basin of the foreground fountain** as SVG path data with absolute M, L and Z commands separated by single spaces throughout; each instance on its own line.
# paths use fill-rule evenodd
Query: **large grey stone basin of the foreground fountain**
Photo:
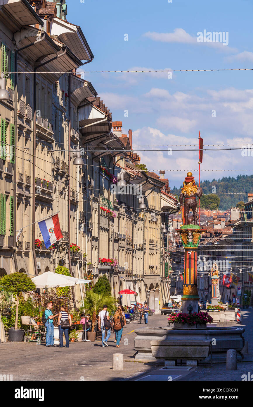
M 171 349 L 168 352 L 173 352 L 171 358 L 173 360 L 182 359 L 182 360 L 200 360 L 202 363 L 209 363 L 211 360 L 210 354 L 205 358 L 201 357 L 201 352 L 204 351 L 203 348 L 199 354 L 197 354 L 197 346 L 194 345 L 192 348 L 192 356 L 189 356 L 191 345 L 198 343 L 199 347 L 205 347 L 205 341 L 208 341 L 212 344 L 212 362 L 226 362 L 226 354 L 228 349 L 235 349 L 237 352 L 237 360 L 240 361 L 243 358 L 241 353 L 242 348 L 244 347 L 244 328 L 229 326 L 229 327 L 207 327 L 204 329 L 196 328 L 187 328 L 187 329 L 177 329 L 171 327 L 155 327 L 155 328 L 141 328 L 136 329 L 136 338 L 134 339 L 134 349 L 138 352 L 135 355 L 135 359 L 139 361 L 153 361 L 153 362 L 164 362 L 170 359 L 170 356 L 166 357 L 165 348 L 168 346 L 176 346 L 179 341 L 181 341 L 182 349 L 177 353 L 177 350 Z M 153 341 L 153 342 L 152 342 Z M 160 345 L 159 345 L 159 341 Z M 166 341 L 168 341 L 166 343 Z M 152 342 L 152 344 L 151 344 Z M 202 344 L 201 344 L 202 343 Z M 171 345 L 173 344 L 173 345 Z M 152 346 L 156 347 L 153 348 Z M 159 351 L 157 346 L 161 346 Z M 193 346 L 193 345 L 192 345 Z M 182 357 L 182 352 L 184 348 L 185 357 Z M 161 356 L 164 352 L 165 356 Z M 159 356 L 157 356 L 159 354 Z M 168 353 L 169 354 L 169 353 Z M 178 356 L 177 356 L 178 354 Z M 203 355 L 203 353 L 202 353 Z M 199 359 L 198 359 L 199 357 Z

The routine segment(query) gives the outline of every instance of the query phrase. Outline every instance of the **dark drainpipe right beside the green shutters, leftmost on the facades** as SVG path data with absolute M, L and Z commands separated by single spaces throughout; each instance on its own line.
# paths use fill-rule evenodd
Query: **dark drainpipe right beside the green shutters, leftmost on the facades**
M 22 50 L 31 47 L 32 45 L 38 44 L 39 42 L 43 41 L 45 38 L 45 33 L 42 34 L 41 38 L 36 40 L 35 42 L 32 42 L 29 45 L 26 45 L 22 48 L 19 48 L 18 50 L 15 51 L 15 90 L 14 90 L 14 167 L 13 167 L 13 247 L 15 249 L 13 250 L 13 259 L 14 259 L 14 265 L 15 265 L 15 271 L 18 272 L 18 266 L 17 266 L 17 256 L 16 256 L 16 219 L 17 219 L 17 197 L 16 197 L 16 188 L 17 188 L 17 80 L 18 80 L 18 74 L 17 74 L 17 55 L 19 52 Z M 14 240 L 15 239 L 15 240 Z M 33 247 L 33 244 L 32 244 Z M 37 263 L 35 264 L 35 275 L 38 275 L 37 272 Z

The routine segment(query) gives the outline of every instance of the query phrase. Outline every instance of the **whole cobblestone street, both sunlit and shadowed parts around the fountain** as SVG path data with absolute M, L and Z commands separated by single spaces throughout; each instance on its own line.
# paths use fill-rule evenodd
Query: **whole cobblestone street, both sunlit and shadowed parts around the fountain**
M 249 344 L 249 354 L 238 363 L 238 370 L 226 371 L 225 363 L 201 365 L 185 372 L 183 376 L 175 376 L 175 380 L 184 381 L 231 381 L 242 380 L 242 374 L 253 373 L 253 321 L 252 310 L 242 311 L 245 328 L 244 338 Z M 167 326 L 167 316 L 154 315 L 149 317 L 149 326 Z M 159 369 L 154 363 L 142 363 L 134 361 L 134 330 L 144 327 L 137 322 L 131 322 L 124 327 L 121 348 L 115 348 L 114 334 L 112 333 L 108 348 L 102 348 L 101 341 L 71 343 L 66 348 L 45 348 L 44 344 L 38 346 L 33 343 L 6 342 L 0 346 L 1 368 L 0 374 L 12 374 L 13 380 L 136 380 L 149 375 Z M 124 354 L 124 370 L 114 372 L 112 370 L 112 355 Z M 160 368 L 162 365 L 160 365 Z M 160 377 L 160 376 L 159 376 Z M 149 379 L 149 380 L 150 380 Z M 152 380 L 152 379 L 151 379 Z M 159 380 L 157 377 L 156 380 Z

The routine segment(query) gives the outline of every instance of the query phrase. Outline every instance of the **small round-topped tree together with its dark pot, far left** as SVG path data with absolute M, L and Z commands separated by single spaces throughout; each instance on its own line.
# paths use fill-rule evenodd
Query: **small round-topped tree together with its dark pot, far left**
M 9 291 L 11 293 L 15 293 L 17 295 L 15 326 L 14 328 L 9 329 L 9 341 L 22 342 L 24 337 L 24 329 L 17 328 L 19 293 L 35 291 L 36 286 L 26 274 L 12 273 L 7 274 L 6 276 L 2 276 L 0 278 L 0 289 L 4 291 Z

